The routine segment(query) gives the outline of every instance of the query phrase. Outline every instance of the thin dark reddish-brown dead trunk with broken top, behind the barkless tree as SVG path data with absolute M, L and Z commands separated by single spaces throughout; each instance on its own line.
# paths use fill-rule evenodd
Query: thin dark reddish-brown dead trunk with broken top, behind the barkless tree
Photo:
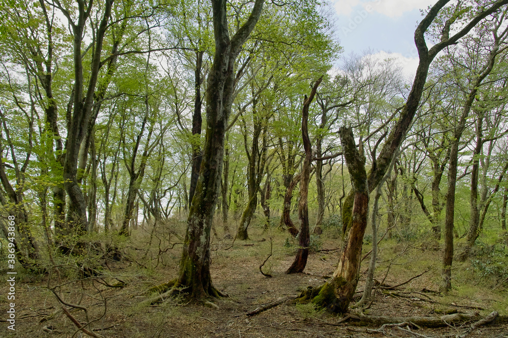
M 298 239 L 298 252 L 295 261 L 289 267 L 287 274 L 303 272 L 307 265 L 307 257 L 309 255 L 310 231 L 309 231 L 309 210 L 307 205 L 307 196 L 309 193 L 310 180 L 310 161 L 312 161 L 312 149 L 310 144 L 309 132 L 307 128 L 309 120 L 309 106 L 317 91 L 317 86 L 321 83 L 323 77 L 319 78 L 314 84 L 310 96 L 303 101 L 302 109 L 302 138 L 303 148 L 305 149 L 305 159 L 302 166 L 302 179 L 300 181 L 300 201 L 298 202 L 298 218 L 300 219 L 300 236 Z

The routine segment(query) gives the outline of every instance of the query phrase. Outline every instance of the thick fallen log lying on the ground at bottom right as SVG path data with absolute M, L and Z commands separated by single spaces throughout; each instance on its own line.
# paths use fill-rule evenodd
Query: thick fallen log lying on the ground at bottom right
M 444 315 L 441 317 L 387 317 L 387 316 L 351 316 L 351 319 L 357 320 L 352 322 L 354 325 L 383 325 L 393 323 L 410 322 L 415 325 L 424 327 L 443 327 L 450 324 L 464 323 L 479 318 L 478 312 L 471 313 L 455 313 L 453 315 Z

